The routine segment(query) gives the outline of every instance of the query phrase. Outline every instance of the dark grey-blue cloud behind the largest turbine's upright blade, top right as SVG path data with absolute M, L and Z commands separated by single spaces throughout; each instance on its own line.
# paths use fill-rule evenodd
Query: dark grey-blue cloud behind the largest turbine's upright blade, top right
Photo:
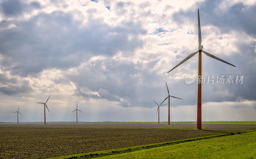
M 179 10 L 174 13 L 172 19 L 179 23 L 191 20 L 191 24 L 197 26 L 197 8 L 199 8 L 201 26 L 218 26 L 223 33 L 230 30 L 244 31 L 247 34 L 256 37 L 256 6 L 247 6 L 243 3 L 237 3 L 227 10 L 219 9 L 223 0 L 206 0 L 187 10 Z M 203 30 L 201 30 L 204 33 Z

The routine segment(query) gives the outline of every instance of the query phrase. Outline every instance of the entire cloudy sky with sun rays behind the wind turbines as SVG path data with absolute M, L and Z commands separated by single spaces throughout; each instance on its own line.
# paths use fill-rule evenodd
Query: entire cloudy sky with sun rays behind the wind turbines
M 198 50 L 197 9 L 203 50 L 236 66 L 202 54 L 202 120 L 256 121 L 255 0 L 0 0 L 0 120 L 44 121 L 51 95 L 46 121 L 76 102 L 79 121 L 157 121 L 166 82 L 171 121 L 196 121 L 198 54 L 167 72 Z

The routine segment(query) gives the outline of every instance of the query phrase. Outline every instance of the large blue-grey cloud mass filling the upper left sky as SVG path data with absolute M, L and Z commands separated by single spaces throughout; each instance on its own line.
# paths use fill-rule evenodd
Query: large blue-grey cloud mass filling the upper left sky
M 17 26 L 0 34 L 0 53 L 12 59 L 5 67 L 13 74 L 27 76 L 47 68 L 75 67 L 92 55 L 113 55 L 118 50 L 130 54 L 143 43 L 139 38 L 128 40 L 128 33 L 136 37 L 145 33 L 138 23 L 111 27 L 102 19 L 89 22 L 80 27 L 81 22 L 61 11 L 41 13 L 28 21 L 2 20 L 2 25 Z

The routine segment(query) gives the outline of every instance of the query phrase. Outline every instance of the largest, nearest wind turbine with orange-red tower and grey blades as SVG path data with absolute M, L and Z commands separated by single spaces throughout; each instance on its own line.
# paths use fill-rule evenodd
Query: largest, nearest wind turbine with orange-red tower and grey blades
M 227 63 L 231 66 L 236 67 L 235 65 L 232 65 L 231 63 L 228 63 L 227 61 L 224 61 L 222 59 L 220 59 L 219 57 L 216 57 L 210 53 L 207 53 L 206 51 L 203 51 L 203 45 L 201 45 L 202 42 L 202 37 L 201 37 L 201 28 L 200 28 L 200 18 L 199 18 L 199 9 L 198 9 L 198 51 L 188 55 L 188 57 L 186 57 L 184 60 L 182 60 L 178 65 L 176 65 L 174 68 L 172 68 L 170 71 L 172 71 L 173 69 L 175 69 L 176 67 L 180 66 L 183 62 L 187 61 L 188 59 L 190 59 L 191 57 L 193 57 L 195 54 L 199 53 L 199 58 L 198 58 L 198 89 L 197 89 L 197 122 L 196 122 L 196 128 L 197 129 L 202 129 L 202 101 L 201 101 L 201 97 L 202 97 L 202 52 L 204 54 L 206 54 L 209 57 L 212 57 L 216 60 L 219 60 L 221 62 Z M 169 71 L 169 72 L 170 72 Z M 167 73 L 169 73 L 167 72 Z

